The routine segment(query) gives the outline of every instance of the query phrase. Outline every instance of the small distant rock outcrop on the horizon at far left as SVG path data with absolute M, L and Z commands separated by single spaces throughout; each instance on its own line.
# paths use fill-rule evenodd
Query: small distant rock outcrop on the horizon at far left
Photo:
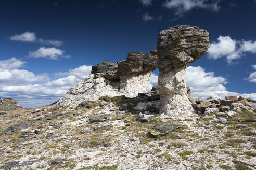
M 0 99 L 0 111 L 9 111 L 9 110 L 17 110 L 22 109 L 20 105 L 18 105 L 18 101 L 11 98 Z

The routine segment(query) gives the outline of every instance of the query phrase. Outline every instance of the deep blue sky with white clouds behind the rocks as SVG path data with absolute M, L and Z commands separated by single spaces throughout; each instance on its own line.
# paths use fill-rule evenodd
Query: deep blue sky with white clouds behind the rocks
M 185 24 L 206 29 L 211 43 L 187 69 L 191 95 L 256 100 L 255 18 L 254 0 L 1 1 L 0 96 L 50 104 L 91 65 L 155 50 L 161 30 Z

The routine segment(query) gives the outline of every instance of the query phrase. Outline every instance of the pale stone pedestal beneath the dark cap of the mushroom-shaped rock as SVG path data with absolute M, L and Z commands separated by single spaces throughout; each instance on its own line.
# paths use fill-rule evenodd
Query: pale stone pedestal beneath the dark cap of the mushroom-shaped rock
M 162 116 L 191 115 L 193 107 L 188 100 L 186 88 L 186 68 L 175 69 L 172 72 L 159 72 L 158 91 L 160 93 L 160 113 Z

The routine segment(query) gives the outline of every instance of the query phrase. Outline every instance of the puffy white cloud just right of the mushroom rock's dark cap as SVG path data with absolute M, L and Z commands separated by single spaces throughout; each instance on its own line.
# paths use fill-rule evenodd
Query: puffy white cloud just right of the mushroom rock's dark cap
M 207 51 L 209 59 L 219 59 L 225 57 L 231 64 L 233 60 L 240 59 L 245 52 L 256 53 L 256 41 L 235 40 L 229 36 L 219 36 L 217 42 L 213 42 Z

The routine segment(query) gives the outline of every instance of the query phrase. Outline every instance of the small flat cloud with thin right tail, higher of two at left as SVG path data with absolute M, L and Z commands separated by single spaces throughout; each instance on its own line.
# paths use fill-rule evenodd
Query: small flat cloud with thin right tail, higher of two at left
M 58 40 L 47 40 L 47 39 L 41 39 L 41 38 L 36 38 L 36 33 L 33 32 L 24 32 L 21 34 L 16 34 L 14 36 L 10 37 L 10 40 L 14 40 L 14 41 L 24 41 L 24 42 L 39 42 L 41 44 L 45 44 L 45 45 L 54 45 L 56 47 L 59 47 L 61 45 L 63 45 L 62 41 L 58 41 Z

